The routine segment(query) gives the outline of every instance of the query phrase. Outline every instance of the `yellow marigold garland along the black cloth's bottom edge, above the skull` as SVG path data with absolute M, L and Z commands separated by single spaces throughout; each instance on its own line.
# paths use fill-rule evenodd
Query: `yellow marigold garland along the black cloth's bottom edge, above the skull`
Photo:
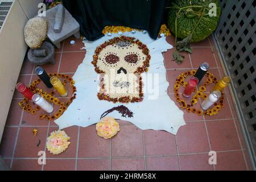
M 117 34 L 119 31 L 121 32 L 130 32 L 133 30 L 137 30 L 137 31 L 142 31 L 136 28 L 130 28 L 130 27 L 125 27 L 125 26 L 106 26 L 103 30 L 102 30 L 102 34 L 107 34 L 109 33 L 114 33 Z M 170 30 L 167 28 L 166 24 L 162 24 L 160 31 L 159 31 L 159 36 L 160 34 L 164 34 L 166 36 L 171 35 Z

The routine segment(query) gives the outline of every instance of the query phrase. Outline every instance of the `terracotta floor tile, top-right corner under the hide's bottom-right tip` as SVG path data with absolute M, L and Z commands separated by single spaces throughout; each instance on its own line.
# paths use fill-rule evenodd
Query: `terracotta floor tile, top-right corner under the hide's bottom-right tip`
M 176 155 L 175 135 L 167 131 L 144 130 L 146 155 Z

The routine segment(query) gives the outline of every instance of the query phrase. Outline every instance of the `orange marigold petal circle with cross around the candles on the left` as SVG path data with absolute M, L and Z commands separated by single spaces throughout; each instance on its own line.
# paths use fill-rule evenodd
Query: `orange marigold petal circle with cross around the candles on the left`
M 55 114 L 49 115 L 49 114 L 43 114 L 40 115 L 39 119 L 47 119 L 48 121 L 51 121 L 52 119 L 56 119 L 59 118 L 65 110 L 68 109 L 68 106 L 72 103 L 72 101 L 76 98 L 76 86 L 75 86 L 75 81 L 73 80 L 72 77 L 68 76 L 68 75 L 63 75 L 63 74 L 59 74 L 59 73 L 50 73 L 49 77 L 52 76 L 56 76 L 58 78 L 62 78 L 63 82 L 62 84 L 65 86 L 68 82 L 69 82 L 69 86 L 71 86 L 71 88 L 73 89 L 73 96 L 69 99 L 69 101 L 67 102 L 60 102 L 59 98 L 55 97 L 55 91 L 52 91 L 51 93 L 47 93 L 44 92 L 42 89 L 39 89 L 36 87 L 36 85 L 38 85 L 41 80 L 35 80 L 32 82 L 32 84 L 30 84 L 30 86 L 28 87 L 32 93 L 37 93 L 39 94 L 41 97 L 43 97 L 45 100 L 48 100 L 50 102 L 52 102 L 55 105 L 59 106 L 59 110 L 57 110 L 57 112 Z M 35 105 L 33 103 L 33 105 Z M 36 111 L 40 110 L 39 106 L 35 106 L 34 108 L 30 105 L 30 102 L 27 98 L 24 98 L 22 101 L 19 102 L 19 106 L 24 110 L 27 111 L 31 114 L 36 114 Z

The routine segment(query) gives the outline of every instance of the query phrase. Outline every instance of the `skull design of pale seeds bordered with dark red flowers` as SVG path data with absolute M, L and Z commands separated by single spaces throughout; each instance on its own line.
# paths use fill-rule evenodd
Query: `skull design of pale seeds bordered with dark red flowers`
M 150 54 L 138 39 L 120 36 L 101 44 L 95 50 L 92 64 L 100 74 L 100 100 L 110 102 L 141 102 L 141 73 L 147 72 Z

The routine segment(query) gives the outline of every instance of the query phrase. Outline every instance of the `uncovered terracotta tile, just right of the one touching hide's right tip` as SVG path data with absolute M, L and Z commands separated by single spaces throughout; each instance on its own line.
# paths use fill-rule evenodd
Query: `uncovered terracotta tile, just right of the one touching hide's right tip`
M 241 149 L 232 120 L 207 122 L 210 144 L 214 151 Z

